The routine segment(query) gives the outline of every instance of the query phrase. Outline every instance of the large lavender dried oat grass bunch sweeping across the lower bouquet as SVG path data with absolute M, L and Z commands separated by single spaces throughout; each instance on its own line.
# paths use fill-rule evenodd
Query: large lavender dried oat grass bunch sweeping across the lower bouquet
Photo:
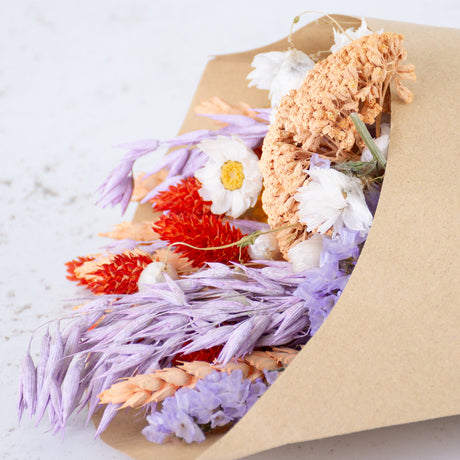
M 118 379 L 171 365 L 177 354 L 222 345 L 222 364 L 257 347 L 302 345 L 322 324 L 349 273 L 340 261 L 355 260 L 361 239 L 344 234 L 342 246 L 325 245 L 322 266 L 294 273 L 291 264 L 263 261 L 257 268 L 209 263 L 186 278 L 152 285 L 131 295 L 92 298 L 61 330 L 42 338 L 37 365 L 24 361 L 18 411 L 37 423 L 46 410 L 54 432 L 74 411 L 98 409 L 98 395 Z M 353 265 L 353 263 L 351 264 Z M 109 404 L 99 435 L 119 405 Z

